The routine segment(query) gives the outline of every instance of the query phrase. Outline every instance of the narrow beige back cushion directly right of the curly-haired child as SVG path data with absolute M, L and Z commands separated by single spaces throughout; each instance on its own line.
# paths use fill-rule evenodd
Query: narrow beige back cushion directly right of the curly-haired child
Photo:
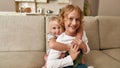
M 99 49 L 98 23 L 95 17 L 84 17 L 84 28 L 88 37 L 88 44 L 91 49 Z

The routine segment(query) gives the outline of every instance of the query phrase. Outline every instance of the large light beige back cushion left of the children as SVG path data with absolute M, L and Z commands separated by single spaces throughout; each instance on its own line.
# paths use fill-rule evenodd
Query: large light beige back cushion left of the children
M 0 16 L 0 51 L 45 51 L 44 16 Z

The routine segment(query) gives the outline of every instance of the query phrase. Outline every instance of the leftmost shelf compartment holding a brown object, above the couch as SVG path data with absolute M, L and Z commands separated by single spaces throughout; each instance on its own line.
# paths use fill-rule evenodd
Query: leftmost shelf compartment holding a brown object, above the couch
M 16 6 L 16 12 L 23 12 L 23 13 L 37 12 L 35 0 L 15 0 L 15 6 Z

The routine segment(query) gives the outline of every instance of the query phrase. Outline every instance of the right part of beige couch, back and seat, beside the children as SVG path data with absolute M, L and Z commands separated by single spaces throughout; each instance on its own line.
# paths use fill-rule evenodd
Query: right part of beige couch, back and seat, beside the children
M 87 65 L 95 68 L 120 68 L 120 17 L 85 17 L 91 52 L 85 55 Z

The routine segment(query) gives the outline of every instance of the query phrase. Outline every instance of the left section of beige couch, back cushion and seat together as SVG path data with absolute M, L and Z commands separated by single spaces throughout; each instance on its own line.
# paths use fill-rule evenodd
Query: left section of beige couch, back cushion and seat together
M 0 68 L 42 68 L 44 16 L 0 16 Z

